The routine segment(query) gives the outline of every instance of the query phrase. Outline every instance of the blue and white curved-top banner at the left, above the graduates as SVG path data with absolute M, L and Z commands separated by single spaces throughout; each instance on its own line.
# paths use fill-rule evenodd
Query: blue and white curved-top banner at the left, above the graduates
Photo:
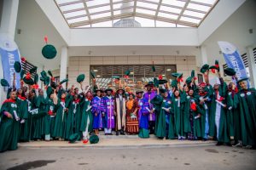
M 12 87 L 15 73 L 15 61 L 20 62 L 20 52 L 15 41 L 5 34 L 0 34 L 0 57 L 3 65 L 3 77 Z M 15 87 L 20 88 L 20 74 L 15 73 Z

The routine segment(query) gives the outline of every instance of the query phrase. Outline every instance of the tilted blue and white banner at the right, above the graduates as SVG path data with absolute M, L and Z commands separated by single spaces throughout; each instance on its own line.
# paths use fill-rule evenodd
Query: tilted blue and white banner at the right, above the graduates
M 228 67 L 236 71 L 238 80 L 247 77 L 246 67 L 237 48 L 230 42 L 218 42 L 218 46 L 224 54 L 224 59 Z

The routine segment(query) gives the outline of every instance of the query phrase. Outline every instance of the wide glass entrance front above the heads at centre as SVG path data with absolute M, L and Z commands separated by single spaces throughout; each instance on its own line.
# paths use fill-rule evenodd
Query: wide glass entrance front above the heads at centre
M 176 65 L 154 65 L 154 67 L 155 73 L 152 71 L 152 65 L 90 65 L 90 71 L 96 73 L 96 84 L 99 88 L 119 88 L 119 82 L 112 78 L 118 76 L 122 85 L 125 84 L 125 87 L 130 87 L 131 91 L 136 92 L 160 75 L 170 82 L 174 78 L 172 72 L 177 71 Z M 126 79 L 124 76 L 127 70 L 130 70 L 130 75 Z

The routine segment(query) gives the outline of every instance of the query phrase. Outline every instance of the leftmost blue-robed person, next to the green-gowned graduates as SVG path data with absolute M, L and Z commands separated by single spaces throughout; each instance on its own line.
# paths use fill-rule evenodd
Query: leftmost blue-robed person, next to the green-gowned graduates
M 102 111 L 101 111 L 101 97 L 102 97 L 102 90 L 96 89 L 96 97 L 92 99 L 91 103 L 91 112 L 93 115 L 93 129 L 97 134 L 99 134 L 99 129 L 102 128 Z

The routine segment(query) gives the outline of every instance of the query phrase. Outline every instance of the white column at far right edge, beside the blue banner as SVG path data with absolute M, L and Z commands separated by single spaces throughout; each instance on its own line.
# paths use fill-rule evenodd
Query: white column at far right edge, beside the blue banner
M 248 59 L 248 66 L 249 66 L 249 71 L 250 71 L 251 86 L 253 88 L 255 88 L 256 87 L 256 65 L 255 65 L 255 61 L 254 61 L 252 46 L 247 47 L 247 59 Z

